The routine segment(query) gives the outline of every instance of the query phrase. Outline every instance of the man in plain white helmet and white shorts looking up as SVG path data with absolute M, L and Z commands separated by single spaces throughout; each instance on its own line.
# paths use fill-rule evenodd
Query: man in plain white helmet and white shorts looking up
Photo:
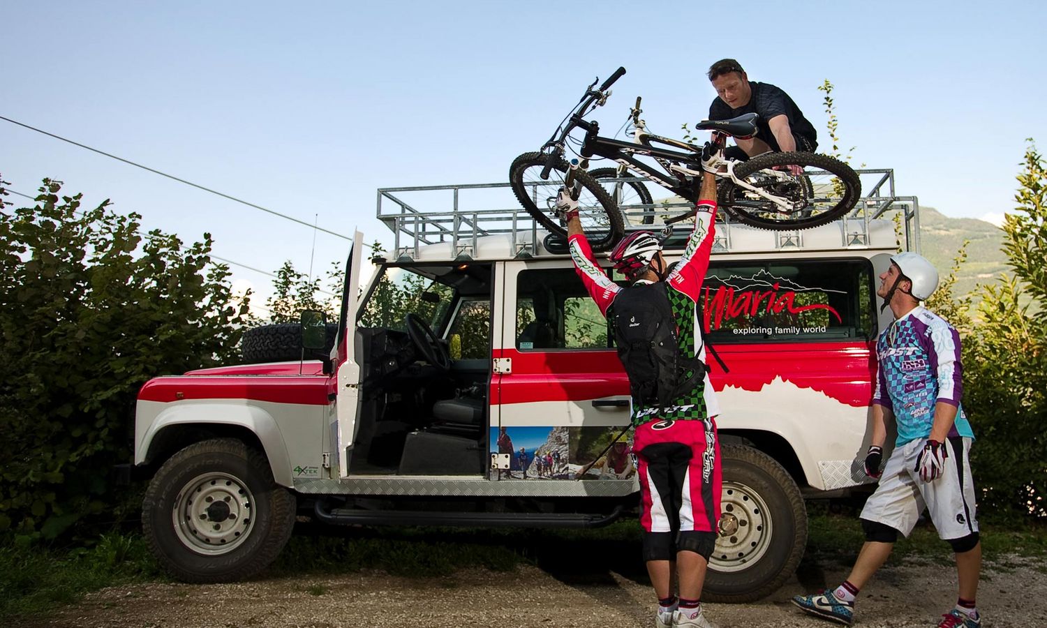
M 805 612 L 851 625 L 854 598 L 884 564 L 897 535 L 909 536 L 923 508 L 938 536 L 956 553 L 959 599 L 939 628 L 975 628 L 981 542 L 968 453 L 974 432 L 960 405 L 960 338 L 940 316 L 920 306 L 938 287 L 938 271 L 916 253 L 898 253 L 879 275 L 876 294 L 894 313 L 879 335 L 879 373 L 872 400 L 871 446 L 865 472 L 879 486 L 862 510 L 866 542 L 847 580 L 833 590 L 797 596 Z M 894 422 L 894 451 L 881 472 L 887 427 Z

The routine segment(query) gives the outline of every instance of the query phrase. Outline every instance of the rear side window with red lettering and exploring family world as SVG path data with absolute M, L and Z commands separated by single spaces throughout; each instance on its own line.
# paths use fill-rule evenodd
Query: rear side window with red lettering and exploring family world
M 872 338 L 868 260 L 710 265 L 701 318 L 713 343 Z

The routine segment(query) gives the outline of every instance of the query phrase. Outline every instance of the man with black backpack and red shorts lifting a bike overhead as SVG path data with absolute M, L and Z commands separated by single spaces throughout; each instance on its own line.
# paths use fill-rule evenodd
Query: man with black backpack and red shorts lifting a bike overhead
M 718 157 L 713 151 L 707 144 L 703 152 L 707 169 Z M 572 260 L 600 312 L 614 321 L 619 358 L 629 376 L 643 554 L 659 599 L 656 628 L 713 628 L 699 600 L 719 521 L 719 407 L 695 315 L 716 214 L 716 179 L 708 172 L 698 197 L 694 230 L 673 268 L 650 231 L 618 244 L 610 262 L 630 284 L 622 288 L 600 268 L 577 206 L 561 195 Z M 673 562 L 678 598 L 671 589 Z

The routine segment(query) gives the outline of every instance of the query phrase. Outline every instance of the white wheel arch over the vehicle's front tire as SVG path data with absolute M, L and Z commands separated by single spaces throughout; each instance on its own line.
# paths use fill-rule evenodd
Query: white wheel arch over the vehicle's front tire
M 142 436 L 135 465 L 162 462 L 193 443 L 223 436 L 239 439 L 262 451 L 273 480 L 286 488 L 293 487 L 291 458 L 276 421 L 255 406 L 206 404 L 164 408 Z

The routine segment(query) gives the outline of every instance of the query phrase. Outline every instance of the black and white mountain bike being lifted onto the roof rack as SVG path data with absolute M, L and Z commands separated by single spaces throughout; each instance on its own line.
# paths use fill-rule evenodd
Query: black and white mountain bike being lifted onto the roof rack
M 630 113 L 636 128 L 632 142 L 600 137 L 599 125 L 584 119 L 606 104 L 610 86 L 623 74 L 625 68 L 619 68 L 597 89 L 594 81 L 541 150 L 520 155 L 509 169 L 509 182 L 517 200 L 552 233 L 566 234 L 557 218 L 556 199 L 561 188 L 570 189 L 578 201 L 579 218 L 595 249 L 614 244 L 624 232 L 624 220 L 608 187 L 601 182 L 609 178 L 606 173 L 598 179 L 587 172 L 592 158 L 610 159 L 620 169 L 646 177 L 691 204 L 697 200 L 701 185 L 701 147 L 648 133 L 639 117 L 639 98 Z M 722 149 L 728 137 L 755 135 L 757 117 L 749 113 L 729 120 L 705 120 L 695 125 L 695 129 L 711 131 L 710 141 Z M 583 139 L 571 137 L 575 129 L 585 132 Z M 578 158 L 571 163 L 565 159 L 569 141 L 579 147 Z M 638 157 L 650 158 L 654 163 L 640 161 Z M 827 155 L 789 152 L 765 153 L 748 161 L 721 158 L 714 170 L 719 188 L 717 205 L 738 222 L 765 229 L 806 229 L 829 223 L 847 214 L 861 197 L 857 174 Z M 615 174 L 615 179 L 622 179 L 617 176 L 623 174 L 622 170 L 616 169 Z M 616 181 L 619 182 L 642 185 L 639 181 Z M 644 198 L 637 187 L 632 189 Z M 644 203 L 651 204 L 646 199 Z M 693 216 L 694 208 L 645 211 L 643 222 L 648 222 L 648 215 L 653 218 L 655 214 L 663 214 L 665 224 L 670 225 Z

